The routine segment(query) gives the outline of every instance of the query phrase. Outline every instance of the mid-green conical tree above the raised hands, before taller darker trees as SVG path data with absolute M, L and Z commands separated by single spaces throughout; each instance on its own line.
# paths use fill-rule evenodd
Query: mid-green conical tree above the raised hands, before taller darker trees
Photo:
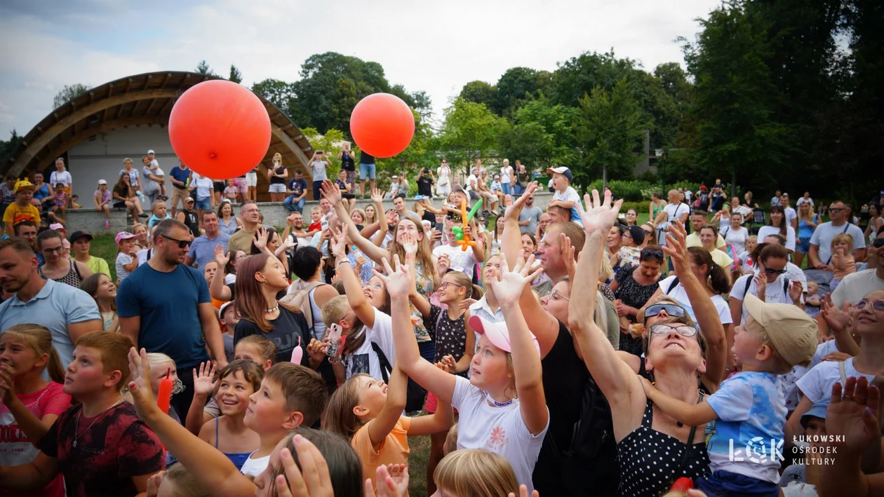
M 617 81 L 610 93 L 593 88 L 579 104 L 576 134 L 583 167 L 572 169 L 575 184 L 589 184 L 599 176 L 631 179 L 647 123 L 627 79 Z

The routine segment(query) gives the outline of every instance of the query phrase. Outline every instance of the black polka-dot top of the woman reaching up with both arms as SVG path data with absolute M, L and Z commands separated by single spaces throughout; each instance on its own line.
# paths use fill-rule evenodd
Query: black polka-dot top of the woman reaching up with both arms
M 667 493 L 675 479 L 709 475 L 705 443 L 688 445 L 651 428 L 653 403 L 644 408 L 642 425 L 617 444 L 621 497 L 649 497 Z M 691 439 L 693 438 L 691 431 Z M 688 451 L 685 457 L 685 451 Z M 682 460 L 684 463 L 682 464 Z

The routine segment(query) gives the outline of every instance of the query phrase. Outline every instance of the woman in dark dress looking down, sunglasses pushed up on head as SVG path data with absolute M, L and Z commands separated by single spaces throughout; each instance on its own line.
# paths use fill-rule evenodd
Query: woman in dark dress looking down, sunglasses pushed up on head
M 663 251 L 659 248 L 645 248 L 638 256 L 638 264 L 623 267 L 610 284 L 617 300 L 617 315 L 620 317 L 620 350 L 640 356 L 642 354 L 642 335 L 633 335 L 630 325 L 636 322 L 639 309 L 659 289 L 659 281 L 663 279 L 660 269 L 663 267 Z

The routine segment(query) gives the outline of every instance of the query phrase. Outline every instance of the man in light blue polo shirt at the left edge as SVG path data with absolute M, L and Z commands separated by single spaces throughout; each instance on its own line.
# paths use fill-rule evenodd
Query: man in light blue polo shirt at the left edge
M 44 280 L 34 251 L 21 238 L 0 240 L 0 284 L 13 294 L 0 304 L 0 330 L 25 323 L 48 328 L 64 367 L 80 336 L 102 330 L 95 300 L 71 285 Z

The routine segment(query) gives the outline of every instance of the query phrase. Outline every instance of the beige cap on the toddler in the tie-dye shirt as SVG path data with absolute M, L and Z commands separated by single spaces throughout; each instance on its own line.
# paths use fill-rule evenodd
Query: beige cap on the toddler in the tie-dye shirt
M 751 293 L 743 305 L 753 320 L 773 342 L 773 347 L 789 365 L 798 365 L 813 358 L 817 351 L 817 322 L 797 305 L 768 304 Z

